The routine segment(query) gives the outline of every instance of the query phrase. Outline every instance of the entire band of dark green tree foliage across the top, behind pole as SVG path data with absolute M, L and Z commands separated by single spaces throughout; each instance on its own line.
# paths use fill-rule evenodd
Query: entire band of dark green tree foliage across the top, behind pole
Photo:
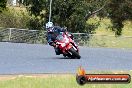
M 30 14 L 48 21 L 50 0 L 24 0 Z M 42 14 L 42 12 L 44 12 Z M 108 17 L 113 23 L 112 30 L 121 35 L 123 22 L 132 19 L 131 0 L 53 0 L 52 21 L 56 25 L 66 26 L 72 32 L 88 32 L 99 24 L 86 23 L 94 14 Z M 42 26 L 42 25 L 41 25 Z

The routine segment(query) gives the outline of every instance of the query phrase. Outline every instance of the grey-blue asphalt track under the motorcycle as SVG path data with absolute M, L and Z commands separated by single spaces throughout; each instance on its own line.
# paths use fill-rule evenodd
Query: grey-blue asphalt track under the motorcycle
M 81 59 L 56 56 L 42 44 L 0 42 L 0 74 L 76 73 L 87 71 L 132 70 L 132 49 L 80 47 Z

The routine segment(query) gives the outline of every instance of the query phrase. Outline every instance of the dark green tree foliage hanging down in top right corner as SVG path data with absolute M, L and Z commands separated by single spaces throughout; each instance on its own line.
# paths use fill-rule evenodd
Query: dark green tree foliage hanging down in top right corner
M 123 22 L 132 20 L 132 0 L 108 0 L 102 13 L 99 16 L 109 17 L 113 24 L 112 30 L 119 36 L 122 34 Z

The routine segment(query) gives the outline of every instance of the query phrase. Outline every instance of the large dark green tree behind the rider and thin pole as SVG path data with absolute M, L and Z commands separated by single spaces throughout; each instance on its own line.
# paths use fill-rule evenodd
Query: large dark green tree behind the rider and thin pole
M 45 18 L 46 23 L 49 17 L 50 0 L 28 0 L 25 5 L 28 6 L 30 14 Z M 52 22 L 56 25 L 66 26 L 72 32 L 91 33 L 97 25 L 87 25 L 86 21 L 92 12 L 102 7 L 99 0 L 53 0 L 52 2 Z M 24 1 L 25 2 L 25 1 Z M 104 4 L 104 3 L 103 3 Z M 41 14 L 45 11 L 45 14 Z M 90 26 L 90 27 L 89 27 Z M 92 27 L 91 27 L 92 26 Z

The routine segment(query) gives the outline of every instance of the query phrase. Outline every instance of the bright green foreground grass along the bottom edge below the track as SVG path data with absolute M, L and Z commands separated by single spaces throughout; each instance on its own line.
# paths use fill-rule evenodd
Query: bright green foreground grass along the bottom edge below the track
M 128 72 L 128 73 L 132 74 L 132 72 Z M 0 88 L 131 88 L 131 87 L 132 87 L 132 83 L 85 84 L 84 86 L 80 86 L 77 84 L 76 76 L 73 74 L 67 74 L 67 75 L 49 74 L 46 76 L 28 75 L 28 76 L 16 76 L 14 79 L 0 80 Z

